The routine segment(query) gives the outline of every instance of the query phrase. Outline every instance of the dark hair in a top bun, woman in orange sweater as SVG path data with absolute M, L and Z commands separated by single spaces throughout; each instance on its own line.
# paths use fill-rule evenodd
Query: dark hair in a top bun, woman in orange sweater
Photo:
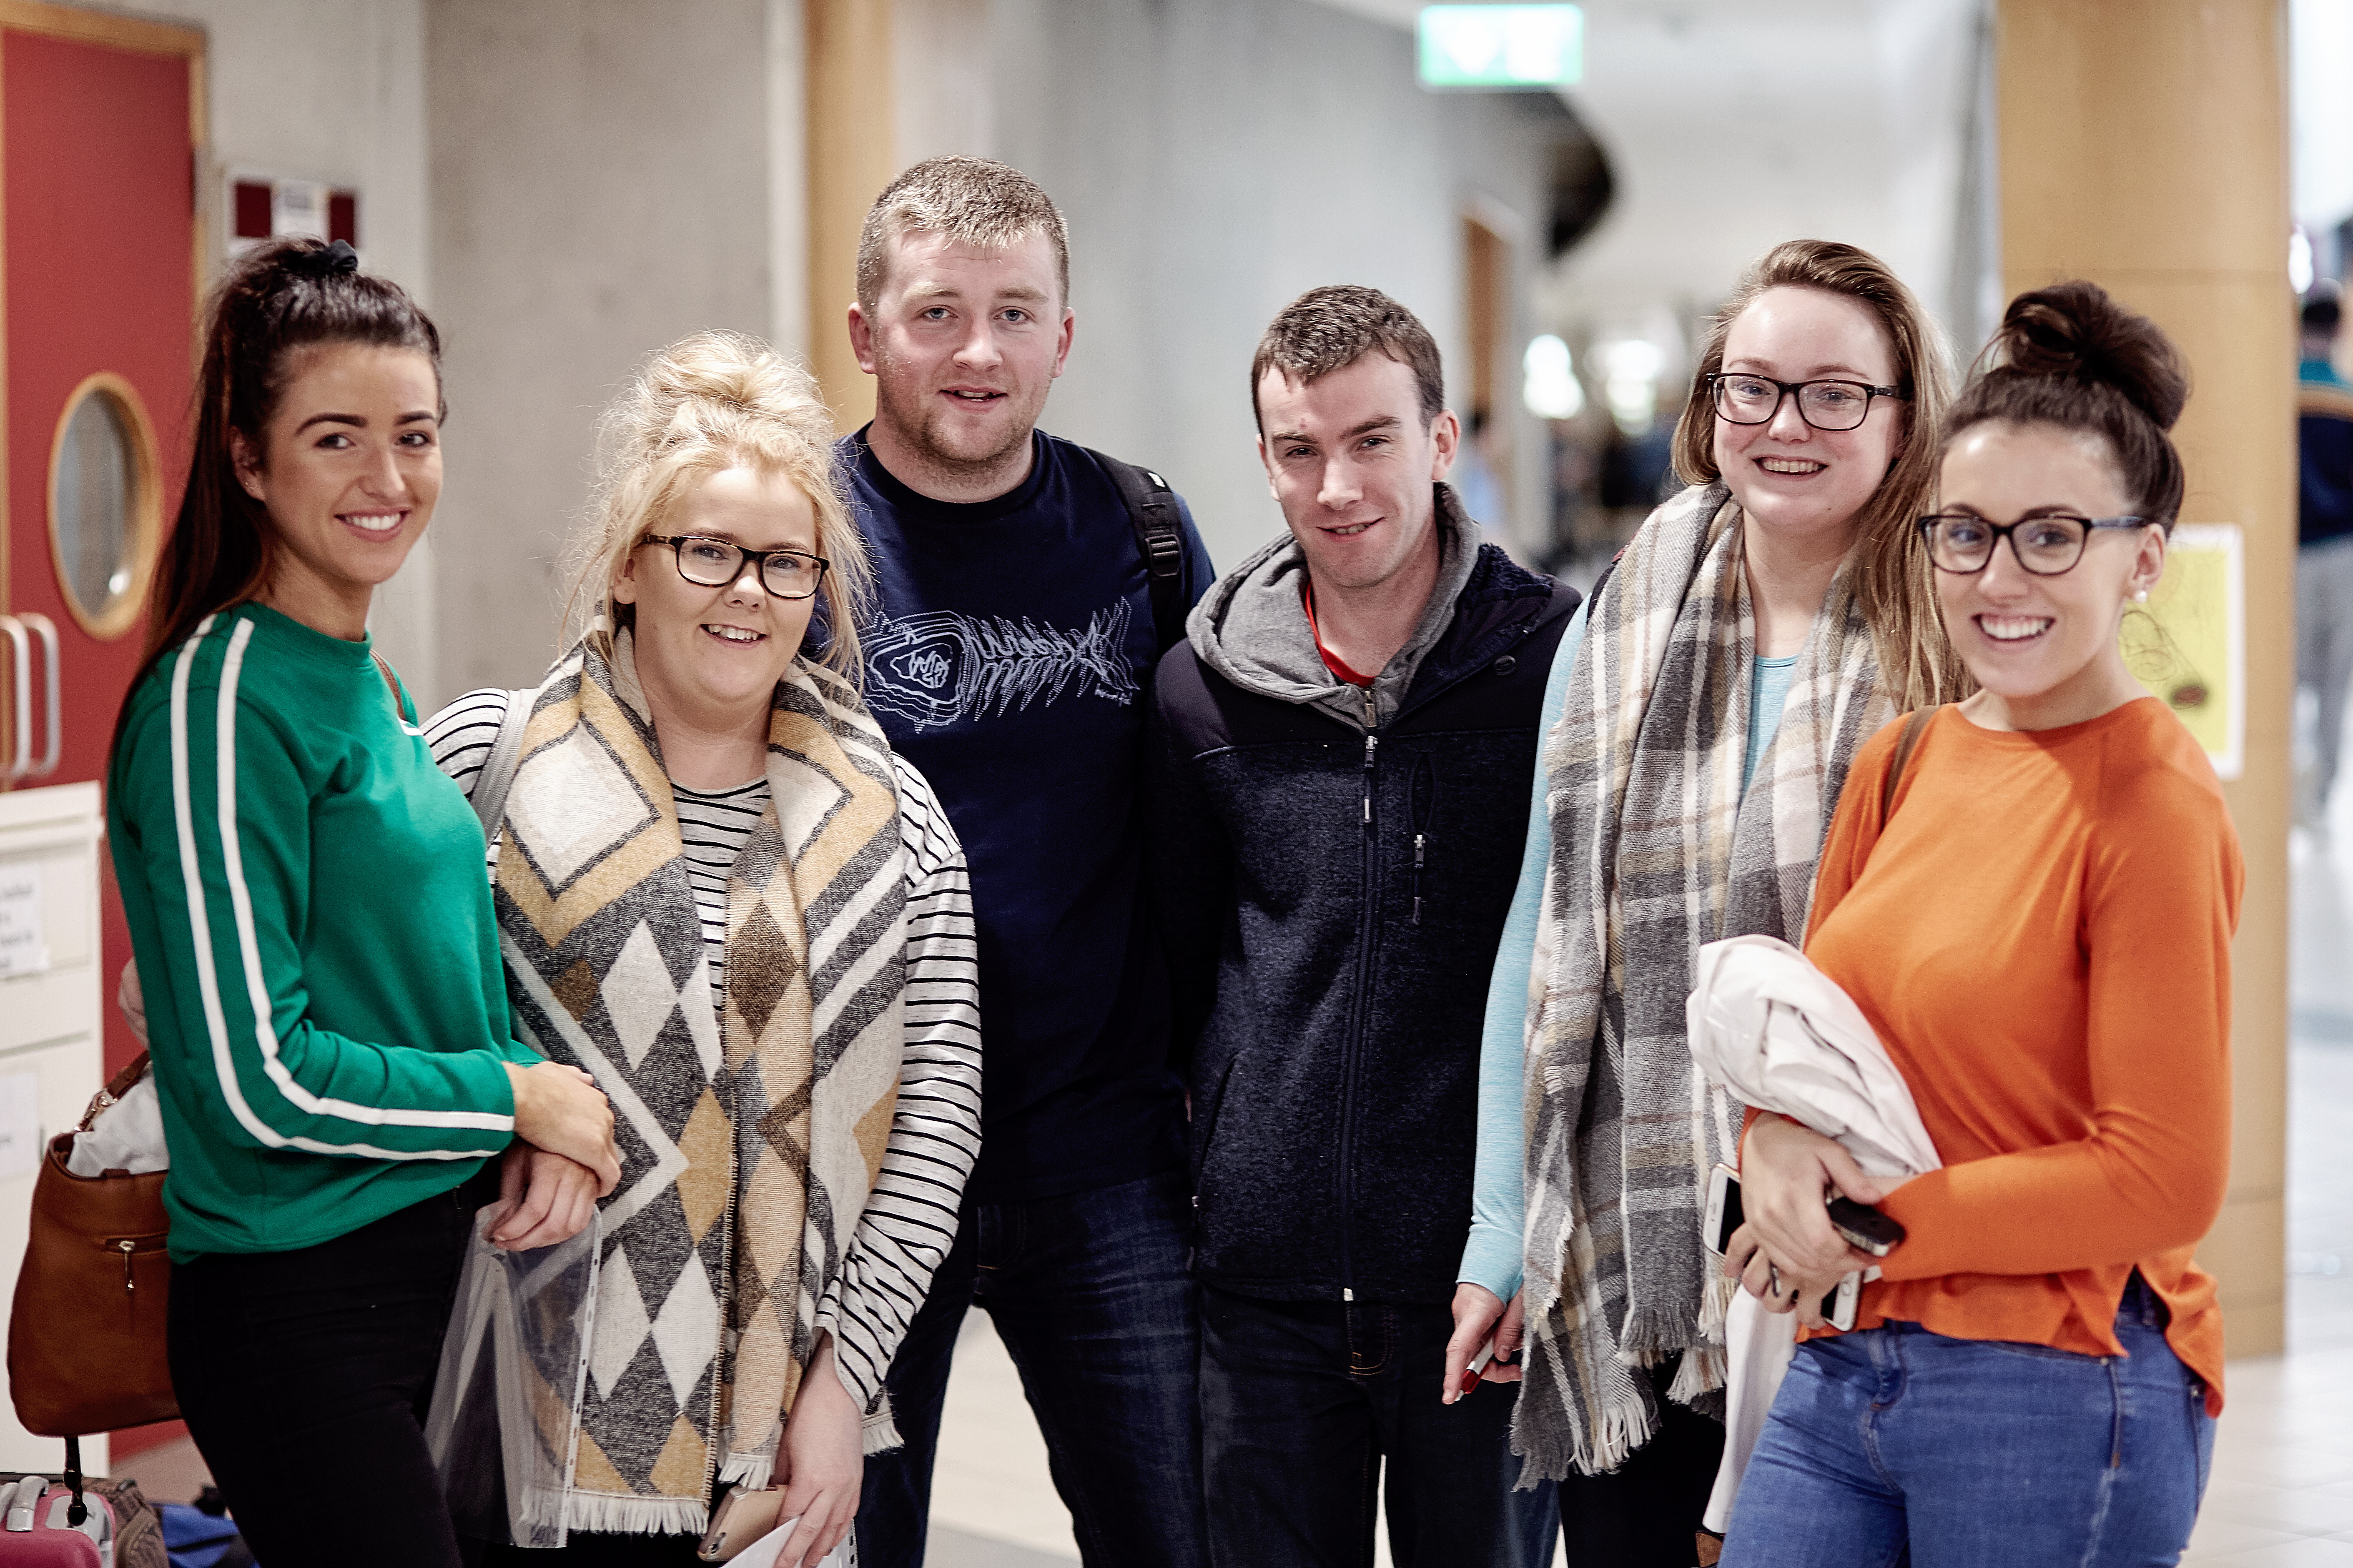
M 2009 301 L 1944 416 L 1944 444 L 1998 418 L 2097 435 L 2134 510 L 2172 534 L 2184 477 L 2167 430 L 2188 397 L 2188 364 L 2155 322 L 2125 310 L 2097 282 L 2061 282 Z

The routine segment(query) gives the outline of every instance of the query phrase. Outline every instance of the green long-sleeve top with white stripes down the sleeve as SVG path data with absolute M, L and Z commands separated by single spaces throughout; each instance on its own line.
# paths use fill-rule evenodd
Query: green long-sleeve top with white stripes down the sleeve
M 172 1258 L 315 1246 L 513 1138 L 482 830 L 367 639 L 259 604 L 132 696 L 106 835 L 146 990 Z

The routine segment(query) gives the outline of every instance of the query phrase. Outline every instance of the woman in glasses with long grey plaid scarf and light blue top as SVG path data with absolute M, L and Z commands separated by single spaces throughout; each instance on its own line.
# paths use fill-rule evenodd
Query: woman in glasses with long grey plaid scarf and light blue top
M 1704 943 L 1805 931 L 1854 748 L 1955 691 L 1913 529 L 1944 386 L 1937 327 L 1885 263 L 1767 252 L 1675 425 L 1689 489 L 1553 658 L 1449 1368 L 1499 1319 L 1497 1354 L 1520 1345 L 1525 1272 L 1513 1436 L 1529 1479 L 1560 1479 L 1577 1568 L 1692 1563 L 1725 1441 L 1701 1208 L 1737 1128 L 1682 1004 Z

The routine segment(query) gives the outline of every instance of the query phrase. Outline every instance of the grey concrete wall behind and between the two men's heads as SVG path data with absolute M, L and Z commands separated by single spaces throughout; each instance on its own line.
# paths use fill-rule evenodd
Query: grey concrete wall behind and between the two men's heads
M 1572 134 L 1551 99 L 1421 92 L 1412 35 L 1301 0 L 995 0 L 993 54 L 988 150 L 1071 221 L 1078 341 L 1045 425 L 1167 473 L 1219 567 L 1282 527 L 1247 378 L 1289 299 L 1398 296 L 1468 409 L 1459 219 L 1504 207 L 1532 240 L 1525 327 L 1546 146 Z

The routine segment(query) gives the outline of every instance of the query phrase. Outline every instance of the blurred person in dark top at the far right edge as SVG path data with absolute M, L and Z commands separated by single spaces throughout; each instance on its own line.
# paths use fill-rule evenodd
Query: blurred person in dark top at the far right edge
M 2332 360 L 2341 322 L 2334 282 L 2304 299 L 2297 367 L 2297 684 L 2320 698 L 2315 788 L 2299 802 L 2327 820 L 2353 691 L 2353 386 Z

